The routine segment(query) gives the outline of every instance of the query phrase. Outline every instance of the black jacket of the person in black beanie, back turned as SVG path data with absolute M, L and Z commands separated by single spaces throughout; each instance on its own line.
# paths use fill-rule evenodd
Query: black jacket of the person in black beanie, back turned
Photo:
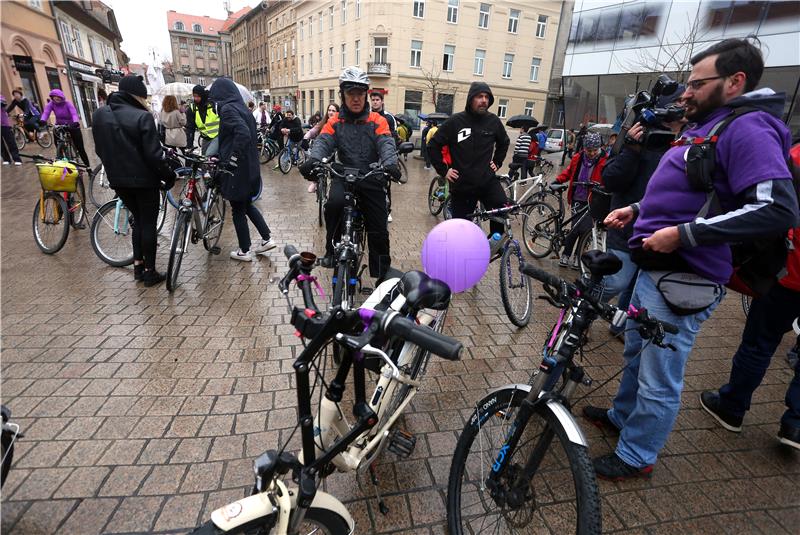
M 150 111 L 124 92 L 111 93 L 106 102 L 92 115 L 92 137 L 111 187 L 158 188 L 173 173 Z

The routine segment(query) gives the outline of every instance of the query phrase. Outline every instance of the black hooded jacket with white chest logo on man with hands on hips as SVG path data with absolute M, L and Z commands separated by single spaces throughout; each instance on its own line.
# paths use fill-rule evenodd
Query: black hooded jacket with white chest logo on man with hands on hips
M 475 191 L 493 180 L 495 173 L 489 164 L 494 162 L 499 169 L 508 152 L 510 140 L 500 119 L 493 113 L 477 114 L 471 110 L 470 103 L 479 93 L 489 94 L 489 106 L 494 103 L 489 86 L 473 82 L 467 94 L 465 111 L 445 121 L 428 143 L 431 163 L 440 176 L 448 170 L 442 159 L 442 148 L 450 147 L 450 167 L 459 173 L 458 180 L 451 185 L 453 191 Z

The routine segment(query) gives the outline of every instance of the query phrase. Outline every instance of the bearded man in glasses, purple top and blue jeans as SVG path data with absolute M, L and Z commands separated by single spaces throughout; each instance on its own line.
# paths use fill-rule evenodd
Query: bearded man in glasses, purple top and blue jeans
M 661 159 L 642 201 L 614 210 L 605 220 L 622 228 L 636 217 L 629 246 L 640 271 L 631 304 L 679 329 L 664 340 L 673 351 L 643 340 L 629 320 L 613 407 L 590 418 L 620 434 L 616 450 L 594 460 L 605 479 L 650 477 L 678 415 L 695 337 L 733 273 L 728 244 L 797 226 L 797 198 L 786 163 L 790 136 L 780 120 L 785 97 L 769 89 L 754 91 L 764 70 L 761 51 L 747 39 L 726 39 L 694 56 L 691 64 L 682 98 L 693 124 L 683 142 Z M 699 217 L 709 199 L 687 176 L 686 152 L 742 106 L 755 110 L 739 115 L 713 145 L 718 207 Z

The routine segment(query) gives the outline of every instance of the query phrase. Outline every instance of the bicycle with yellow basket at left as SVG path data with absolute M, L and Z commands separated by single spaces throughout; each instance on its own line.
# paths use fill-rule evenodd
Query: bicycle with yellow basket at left
M 45 254 L 64 247 L 69 228 L 85 228 L 86 190 L 83 173 L 88 167 L 72 162 L 50 160 L 42 155 L 20 154 L 36 163 L 42 190 L 33 209 L 33 238 Z M 55 165 L 58 164 L 58 165 Z

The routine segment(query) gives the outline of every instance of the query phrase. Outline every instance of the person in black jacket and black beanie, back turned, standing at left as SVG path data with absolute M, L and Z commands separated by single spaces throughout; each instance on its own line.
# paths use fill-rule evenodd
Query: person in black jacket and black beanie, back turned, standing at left
M 156 271 L 158 190 L 162 181 L 172 187 L 175 175 L 164 159 L 141 77 L 122 78 L 107 103 L 92 116 L 95 152 L 111 187 L 133 215 L 133 276 L 154 286 L 165 279 Z

